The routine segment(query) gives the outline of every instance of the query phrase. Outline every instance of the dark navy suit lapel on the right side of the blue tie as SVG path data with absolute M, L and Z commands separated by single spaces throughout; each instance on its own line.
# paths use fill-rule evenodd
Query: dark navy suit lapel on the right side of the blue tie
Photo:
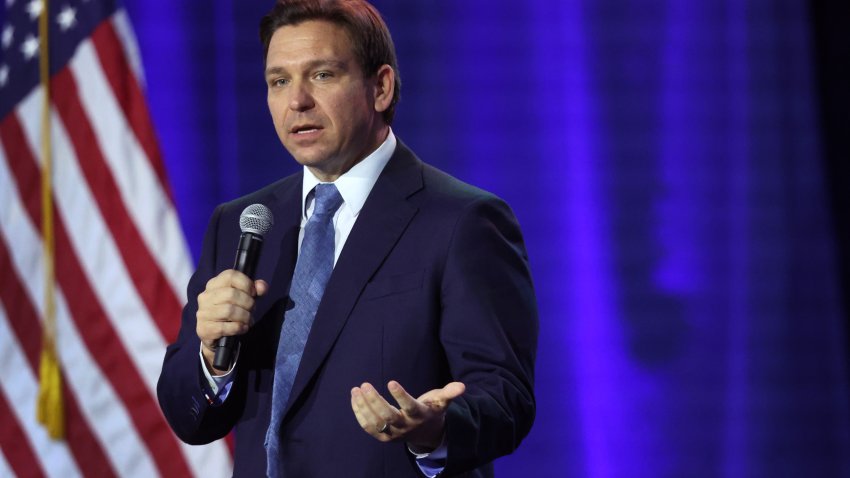
M 422 164 L 399 141 L 369 193 L 325 288 L 286 413 L 330 352 L 366 283 L 416 214 L 417 208 L 407 198 L 421 188 Z

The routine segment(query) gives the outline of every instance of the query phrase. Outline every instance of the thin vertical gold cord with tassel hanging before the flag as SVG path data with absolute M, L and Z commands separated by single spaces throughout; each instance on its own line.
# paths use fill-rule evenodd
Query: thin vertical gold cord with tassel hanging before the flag
M 38 19 L 39 75 L 44 102 L 41 109 L 41 222 L 44 241 L 44 337 L 39 365 L 36 416 L 54 440 L 65 436 L 62 374 L 56 351 L 55 249 L 53 234 L 53 147 L 50 127 L 50 56 L 48 49 L 48 0 Z

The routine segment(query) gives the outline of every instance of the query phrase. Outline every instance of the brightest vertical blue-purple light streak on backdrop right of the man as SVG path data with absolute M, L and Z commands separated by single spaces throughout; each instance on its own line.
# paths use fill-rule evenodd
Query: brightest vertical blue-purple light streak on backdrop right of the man
M 598 111 L 594 109 L 592 55 L 584 25 L 583 9 L 578 2 L 567 2 L 553 12 L 539 9 L 537 25 L 540 44 L 546 45 L 540 63 L 546 65 L 539 104 L 548 105 L 542 116 L 563 125 L 560 131 L 548 128 L 544 157 L 547 169 L 556 178 L 560 190 L 559 205 L 564 214 L 555 214 L 563 238 L 557 247 L 564 257 L 558 270 L 563 281 L 556 284 L 560 298 L 558 308 L 566 327 L 558 335 L 568 344 L 569 363 L 574 371 L 578 394 L 578 424 L 583 444 L 584 476 L 610 476 L 612 434 L 627 418 L 618 409 L 617 376 L 622 376 L 618 359 L 619 342 L 615 324 L 617 316 L 613 283 L 610 279 L 606 199 L 599 188 L 604 165 L 599 158 Z M 560 209 L 553 205 L 554 209 Z M 554 273 L 557 273 L 553 271 Z M 554 275 L 554 274 L 553 274 Z M 553 324 L 554 325 L 554 324 Z M 574 392 L 575 393 L 575 392 Z M 631 461 L 629 448 L 617 450 L 622 460 Z

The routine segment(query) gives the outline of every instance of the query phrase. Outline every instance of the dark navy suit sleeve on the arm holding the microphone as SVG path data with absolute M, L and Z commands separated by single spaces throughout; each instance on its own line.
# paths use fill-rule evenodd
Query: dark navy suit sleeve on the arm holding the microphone
M 225 436 L 236 423 L 234 401 L 211 406 L 202 383 L 203 366 L 198 357 L 201 342 L 196 333 L 198 294 L 220 270 L 229 266 L 216 264 L 217 231 L 223 206 L 210 219 L 198 268 L 187 288 L 187 303 L 183 308 L 177 340 L 168 346 L 157 383 L 159 405 L 174 433 L 184 442 L 198 445 Z M 235 373 L 236 371 L 234 371 Z

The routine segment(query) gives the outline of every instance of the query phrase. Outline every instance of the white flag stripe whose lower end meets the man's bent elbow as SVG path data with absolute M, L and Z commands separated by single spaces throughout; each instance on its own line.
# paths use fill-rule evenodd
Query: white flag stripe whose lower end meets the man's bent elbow
M 21 116 L 30 116 L 38 111 L 42 93 L 43 90 L 37 88 L 20 103 Z M 64 219 L 76 256 L 83 258 L 79 263 L 112 328 L 124 349 L 132 351 L 128 356 L 151 396 L 156 396 L 165 341 L 134 287 L 55 109 L 52 110 L 51 122 L 56 213 Z M 38 130 L 25 128 L 24 131 L 30 145 L 38 144 L 34 142 L 38 138 Z M 41 155 L 36 156 L 42 162 Z

